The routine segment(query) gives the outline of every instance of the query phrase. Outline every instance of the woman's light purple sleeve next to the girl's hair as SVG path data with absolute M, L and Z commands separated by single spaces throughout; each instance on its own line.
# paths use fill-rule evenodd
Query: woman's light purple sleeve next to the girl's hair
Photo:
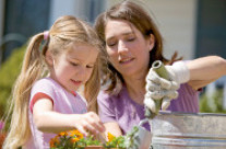
M 97 96 L 98 114 L 103 123 L 117 122 L 114 101 L 110 95 L 100 91 Z

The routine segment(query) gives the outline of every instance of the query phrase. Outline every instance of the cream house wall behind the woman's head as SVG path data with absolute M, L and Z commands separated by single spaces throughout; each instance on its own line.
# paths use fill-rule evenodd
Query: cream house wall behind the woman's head
M 109 5 L 121 1 L 108 1 Z M 142 0 L 141 0 L 142 1 Z M 164 37 L 164 56 L 194 57 L 197 0 L 143 0 Z

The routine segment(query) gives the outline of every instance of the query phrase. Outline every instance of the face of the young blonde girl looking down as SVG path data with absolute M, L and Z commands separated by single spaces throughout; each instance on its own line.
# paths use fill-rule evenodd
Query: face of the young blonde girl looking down
M 91 45 L 73 44 L 70 47 L 50 61 L 50 77 L 69 92 L 90 79 L 98 55 L 96 47 Z

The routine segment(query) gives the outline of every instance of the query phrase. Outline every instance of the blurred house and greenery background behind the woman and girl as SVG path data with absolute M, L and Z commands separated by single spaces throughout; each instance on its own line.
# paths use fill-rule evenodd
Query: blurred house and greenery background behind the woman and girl
M 64 14 L 91 24 L 121 0 L 0 0 L 0 116 L 16 79 L 29 37 L 49 30 Z M 183 59 L 218 55 L 226 58 L 226 0 L 140 0 L 164 37 L 164 55 Z M 142 16 L 141 16 L 142 18 Z M 207 61 L 206 61 L 207 62 Z M 226 78 L 204 88 L 201 112 L 225 113 Z

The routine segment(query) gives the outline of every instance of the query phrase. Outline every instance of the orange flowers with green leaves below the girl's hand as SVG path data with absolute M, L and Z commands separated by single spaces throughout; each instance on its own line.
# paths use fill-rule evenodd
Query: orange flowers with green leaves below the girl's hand
M 108 141 L 102 144 L 92 136 L 84 137 L 79 130 L 58 134 L 49 141 L 50 149 L 135 149 L 138 148 L 138 127 L 126 136 L 116 137 L 108 133 Z

